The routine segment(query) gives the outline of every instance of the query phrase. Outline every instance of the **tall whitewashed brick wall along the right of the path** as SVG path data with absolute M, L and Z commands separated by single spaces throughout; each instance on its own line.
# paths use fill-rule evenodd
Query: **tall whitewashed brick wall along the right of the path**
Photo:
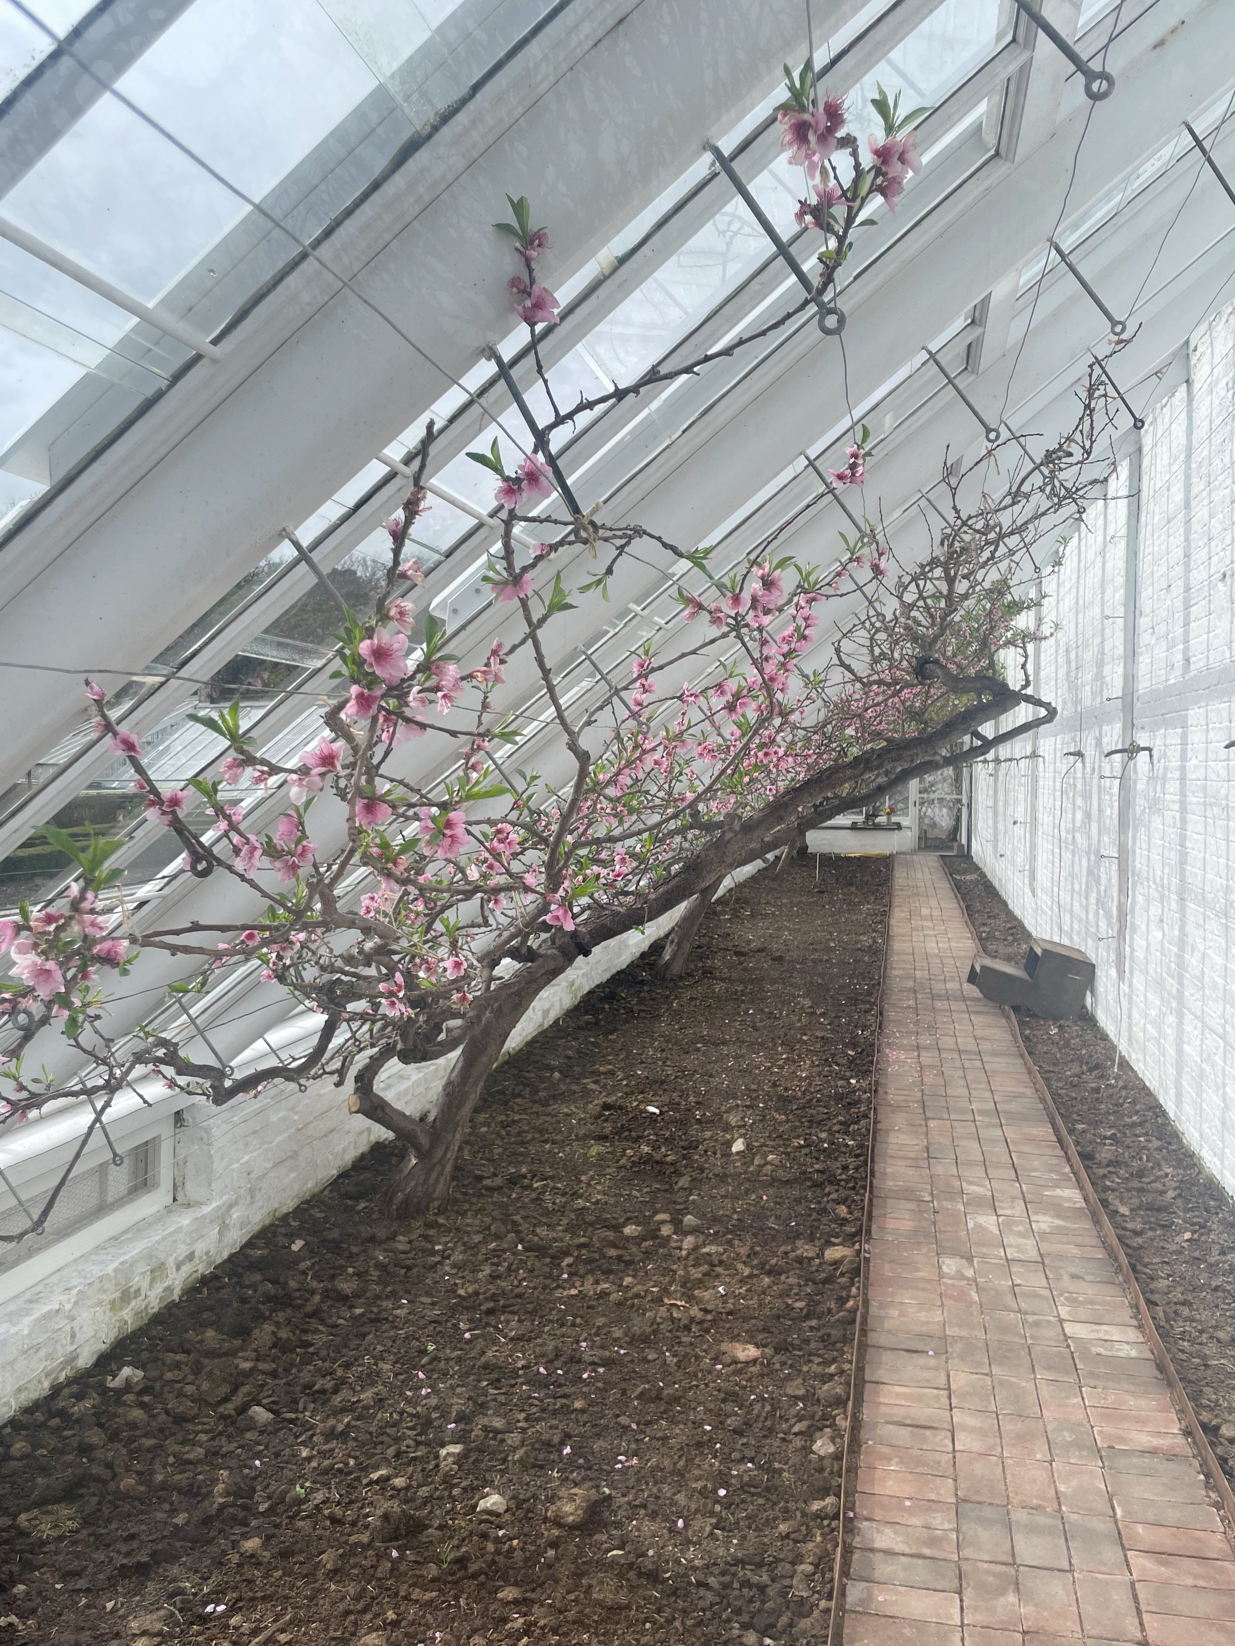
M 1235 1192 L 1235 308 L 1044 579 L 1059 719 L 973 770 L 973 856 Z M 1153 749 L 1108 754 L 1130 741 Z M 1070 751 L 1082 751 L 1077 757 Z

